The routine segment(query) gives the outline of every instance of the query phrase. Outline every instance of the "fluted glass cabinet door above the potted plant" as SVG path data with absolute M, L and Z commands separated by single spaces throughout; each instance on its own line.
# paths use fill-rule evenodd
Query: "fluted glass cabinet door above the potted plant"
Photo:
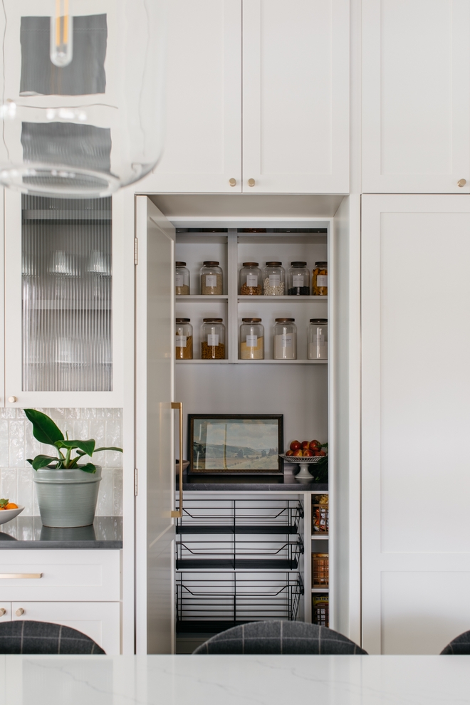
M 113 396 L 112 214 L 110 198 L 6 194 L 7 404 Z

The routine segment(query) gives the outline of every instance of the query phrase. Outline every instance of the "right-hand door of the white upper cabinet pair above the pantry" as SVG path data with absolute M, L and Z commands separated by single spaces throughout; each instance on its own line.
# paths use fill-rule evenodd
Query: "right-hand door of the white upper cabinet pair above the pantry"
M 243 0 L 243 190 L 348 192 L 348 0 Z

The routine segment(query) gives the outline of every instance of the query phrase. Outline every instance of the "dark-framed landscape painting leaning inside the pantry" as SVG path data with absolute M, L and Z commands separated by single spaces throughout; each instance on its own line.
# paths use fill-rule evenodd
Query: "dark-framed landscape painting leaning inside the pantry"
M 189 471 L 282 474 L 283 414 L 188 414 Z

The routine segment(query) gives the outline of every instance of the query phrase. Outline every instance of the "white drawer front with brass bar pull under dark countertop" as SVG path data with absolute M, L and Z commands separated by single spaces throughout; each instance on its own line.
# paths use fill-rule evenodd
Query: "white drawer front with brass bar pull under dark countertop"
M 0 602 L 6 600 L 120 600 L 120 551 L 4 550 Z

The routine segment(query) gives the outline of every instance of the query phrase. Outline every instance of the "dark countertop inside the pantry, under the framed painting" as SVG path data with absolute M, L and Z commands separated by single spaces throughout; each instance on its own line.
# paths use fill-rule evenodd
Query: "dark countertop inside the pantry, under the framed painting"
M 177 476 L 177 489 L 179 488 Z M 327 483 L 304 482 L 296 475 L 285 472 L 283 475 L 195 475 L 183 473 L 183 491 L 217 491 L 217 492 L 325 492 Z

